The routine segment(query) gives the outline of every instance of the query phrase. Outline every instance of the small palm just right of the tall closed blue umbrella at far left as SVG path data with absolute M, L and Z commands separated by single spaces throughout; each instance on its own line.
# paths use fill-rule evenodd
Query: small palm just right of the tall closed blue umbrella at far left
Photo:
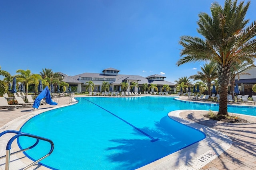
M 28 95 L 28 85 L 30 83 L 34 82 L 34 77 L 32 77 L 31 71 L 30 70 L 16 70 L 16 73 L 20 73 L 16 75 L 17 81 L 18 82 L 25 82 L 26 86 L 26 95 Z

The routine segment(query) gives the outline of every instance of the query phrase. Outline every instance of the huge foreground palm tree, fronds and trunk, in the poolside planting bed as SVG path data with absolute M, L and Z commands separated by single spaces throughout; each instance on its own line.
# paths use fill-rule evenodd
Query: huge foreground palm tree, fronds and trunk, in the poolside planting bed
M 176 64 L 196 61 L 212 61 L 216 63 L 220 85 L 219 115 L 228 115 L 228 84 L 230 68 L 233 63 L 246 61 L 252 63 L 256 58 L 254 39 L 256 35 L 256 21 L 248 25 L 244 20 L 250 2 L 225 0 L 224 8 L 218 2 L 212 3 L 210 11 L 212 17 L 201 12 L 197 29 L 205 39 L 192 36 L 180 37 L 182 57 Z

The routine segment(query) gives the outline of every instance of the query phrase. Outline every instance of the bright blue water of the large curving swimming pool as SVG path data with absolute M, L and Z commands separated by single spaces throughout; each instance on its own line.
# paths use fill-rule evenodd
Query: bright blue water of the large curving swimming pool
M 55 169 L 136 169 L 204 139 L 205 135 L 182 125 L 167 114 L 178 109 L 218 110 L 218 105 L 180 102 L 170 97 L 78 98 L 76 105 L 37 115 L 20 131 L 46 137 L 54 151 L 42 164 Z M 252 108 L 228 107 L 233 113 Z M 26 148 L 33 139 L 20 137 Z M 47 154 L 50 145 L 26 151 L 32 159 Z

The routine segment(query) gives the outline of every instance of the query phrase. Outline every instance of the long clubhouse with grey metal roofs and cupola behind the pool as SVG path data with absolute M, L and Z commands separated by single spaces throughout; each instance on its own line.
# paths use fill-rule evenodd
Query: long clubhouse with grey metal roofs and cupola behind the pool
M 117 92 L 121 91 L 121 83 L 127 82 L 127 92 L 135 91 L 142 92 L 142 84 L 147 83 L 148 87 L 150 84 L 156 84 L 158 92 L 162 92 L 164 84 L 168 84 L 170 87 L 169 92 L 176 92 L 175 84 L 172 82 L 165 81 L 165 76 L 154 74 L 148 77 L 142 77 L 138 75 L 124 75 L 119 74 L 120 70 L 115 68 L 106 68 L 102 73 L 82 73 L 76 76 L 68 76 L 59 72 L 64 82 L 71 86 L 71 92 L 86 92 L 86 82 L 92 81 L 94 83 L 94 92 L 102 92 L 102 82 L 108 82 L 110 84 L 110 91 Z M 132 82 L 138 83 L 138 87 L 130 89 Z M 153 89 L 148 89 L 153 92 Z

